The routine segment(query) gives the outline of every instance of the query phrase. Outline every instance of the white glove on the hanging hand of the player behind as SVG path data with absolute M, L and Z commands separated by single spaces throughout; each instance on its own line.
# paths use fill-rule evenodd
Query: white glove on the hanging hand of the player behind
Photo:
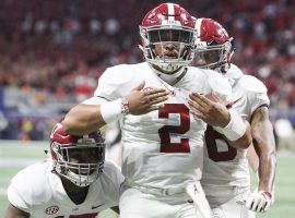
M 264 213 L 271 205 L 272 194 L 266 191 L 252 192 L 248 197 L 238 201 L 238 204 L 244 204 L 247 209 L 256 213 Z

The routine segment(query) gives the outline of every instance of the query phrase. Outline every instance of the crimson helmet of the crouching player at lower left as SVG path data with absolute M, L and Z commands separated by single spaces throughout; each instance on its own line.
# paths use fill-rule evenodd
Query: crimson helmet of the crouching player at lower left
M 87 186 L 102 173 L 105 161 L 105 140 L 101 132 L 74 136 L 66 134 L 57 123 L 50 134 L 54 171 L 78 186 Z

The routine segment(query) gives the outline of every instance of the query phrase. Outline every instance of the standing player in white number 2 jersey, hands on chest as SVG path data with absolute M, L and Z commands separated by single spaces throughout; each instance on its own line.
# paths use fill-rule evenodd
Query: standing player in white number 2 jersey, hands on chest
M 224 129 L 238 123 L 241 128 L 224 130 L 234 141 L 245 136 L 248 146 L 250 132 L 224 106 L 232 93 L 227 80 L 188 66 L 196 34 L 194 20 L 185 9 L 174 3 L 156 7 L 143 19 L 140 35 L 146 61 L 108 68 L 95 97 L 66 116 L 66 131 L 88 133 L 120 120 L 126 177 L 121 218 L 211 217 L 199 182 L 206 123 L 191 113 L 190 97 L 200 97 L 211 108 L 203 112 L 212 124 Z M 204 97 L 212 92 L 224 105 Z

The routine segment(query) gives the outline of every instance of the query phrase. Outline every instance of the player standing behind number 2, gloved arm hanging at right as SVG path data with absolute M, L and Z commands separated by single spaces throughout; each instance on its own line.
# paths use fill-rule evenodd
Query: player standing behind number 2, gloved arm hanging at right
M 267 88 L 258 78 L 244 75 L 231 63 L 233 38 L 217 22 L 198 19 L 196 32 L 197 52 L 192 64 L 215 70 L 228 78 L 236 99 L 233 108 L 250 122 L 253 146 L 259 156 L 259 185 L 250 193 L 247 150 L 228 146 L 223 135 L 208 126 L 201 182 L 216 217 L 253 217 L 250 210 L 264 213 L 270 206 L 275 172 L 275 145 Z

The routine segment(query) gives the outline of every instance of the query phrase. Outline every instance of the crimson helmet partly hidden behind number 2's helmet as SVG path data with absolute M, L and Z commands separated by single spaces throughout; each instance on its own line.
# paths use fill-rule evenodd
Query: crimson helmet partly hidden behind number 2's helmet
M 234 53 L 233 37 L 212 19 L 198 19 L 196 22 L 194 65 L 225 73 Z

